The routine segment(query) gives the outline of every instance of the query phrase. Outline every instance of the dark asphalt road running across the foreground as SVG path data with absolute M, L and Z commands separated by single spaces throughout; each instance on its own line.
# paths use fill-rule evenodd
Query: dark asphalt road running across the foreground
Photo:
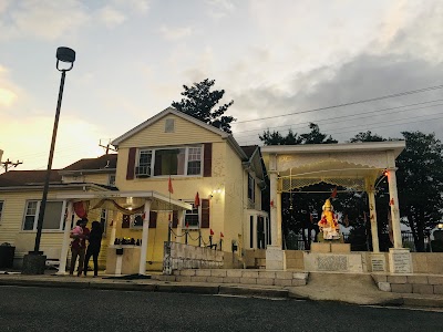
M 0 287 L 0 331 L 443 331 L 443 313 L 336 302 Z

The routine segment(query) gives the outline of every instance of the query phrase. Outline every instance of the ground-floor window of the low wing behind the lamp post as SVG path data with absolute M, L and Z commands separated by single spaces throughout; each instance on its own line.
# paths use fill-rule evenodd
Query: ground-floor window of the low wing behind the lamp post
M 37 230 L 40 205 L 40 200 L 27 201 L 23 218 L 23 230 Z M 42 229 L 62 230 L 64 210 L 64 201 L 47 201 Z

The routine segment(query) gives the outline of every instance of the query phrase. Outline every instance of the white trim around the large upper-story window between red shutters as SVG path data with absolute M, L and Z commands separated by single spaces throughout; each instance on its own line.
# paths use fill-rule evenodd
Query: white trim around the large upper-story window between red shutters
M 188 170 L 188 164 L 189 164 L 189 148 L 192 147 L 199 147 L 200 148 L 200 173 L 199 174 L 187 174 Z M 147 175 L 148 178 L 166 178 L 169 175 L 154 175 L 154 169 L 155 169 L 155 153 L 156 151 L 161 149 L 174 149 L 174 148 L 185 148 L 185 165 L 184 165 L 184 174 L 173 174 L 172 176 L 174 177 L 202 177 L 203 172 L 204 172 L 204 153 L 205 148 L 203 144 L 197 144 L 197 145 L 182 145 L 182 146 L 165 146 L 165 147 L 143 147 L 138 148 L 137 151 L 137 159 L 135 163 L 135 167 L 140 167 L 140 155 L 142 152 L 145 151 L 151 151 L 151 169 L 150 174 Z M 137 177 L 137 174 L 135 173 L 136 178 L 144 178 L 144 177 Z

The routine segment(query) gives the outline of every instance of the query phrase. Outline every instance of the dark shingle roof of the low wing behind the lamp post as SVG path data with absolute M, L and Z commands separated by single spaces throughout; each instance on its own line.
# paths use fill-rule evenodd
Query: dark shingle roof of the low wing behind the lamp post
M 25 186 L 29 184 L 44 184 L 47 170 L 10 170 L 0 175 L 0 187 Z M 52 169 L 50 183 L 61 183 L 62 177 L 58 169 Z

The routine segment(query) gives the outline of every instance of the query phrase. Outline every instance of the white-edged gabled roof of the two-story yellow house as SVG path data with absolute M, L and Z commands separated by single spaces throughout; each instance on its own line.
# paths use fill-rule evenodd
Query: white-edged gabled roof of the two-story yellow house
M 155 122 L 159 121 L 161 118 L 165 117 L 166 115 L 169 114 L 174 114 L 175 116 L 182 117 L 186 121 L 189 121 L 192 123 L 194 123 L 197 126 L 200 126 L 207 131 L 213 132 L 214 134 L 219 135 L 223 139 L 227 139 L 228 144 L 234 148 L 234 151 L 237 153 L 237 155 L 240 157 L 241 160 L 247 160 L 248 157 L 246 156 L 245 152 L 240 148 L 240 146 L 238 145 L 237 141 L 234 139 L 231 134 L 228 134 L 222 129 L 218 129 L 203 121 L 199 121 L 198 118 L 195 118 L 194 116 L 187 115 L 181 111 L 178 111 L 177 108 L 174 107 L 167 107 L 166 110 L 157 113 L 156 115 L 154 115 L 153 117 L 146 120 L 145 122 L 141 123 L 140 125 L 137 125 L 136 127 L 132 128 L 131 131 L 126 132 L 125 134 L 123 134 L 122 136 L 115 138 L 112 142 L 112 145 L 119 147 L 119 145 L 124 142 L 125 139 L 132 137 L 133 135 L 140 133 L 141 131 L 143 131 L 144 128 L 148 127 L 150 125 L 154 124 Z

